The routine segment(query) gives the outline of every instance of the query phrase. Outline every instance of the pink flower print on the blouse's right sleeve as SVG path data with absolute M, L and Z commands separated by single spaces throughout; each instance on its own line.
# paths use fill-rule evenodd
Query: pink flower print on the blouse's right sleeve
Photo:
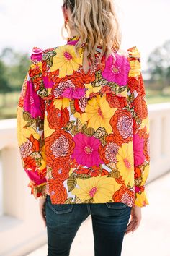
M 138 134 L 133 136 L 133 150 L 134 150 L 134 164 L 139 166 L 145 161 L 145 155 L 143 154 L 144 139 L 140 138 Z

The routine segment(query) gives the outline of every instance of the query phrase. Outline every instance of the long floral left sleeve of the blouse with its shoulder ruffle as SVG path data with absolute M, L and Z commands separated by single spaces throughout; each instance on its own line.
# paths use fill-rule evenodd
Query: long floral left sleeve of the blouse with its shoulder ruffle
M 30 179 L 28 187 L 37 198 L 46 196 L 45 102 L 37 93 L 42 84 L 42 51 L 33 48 L 30 59 L 17 106 L 17 141 L 22 166 Z

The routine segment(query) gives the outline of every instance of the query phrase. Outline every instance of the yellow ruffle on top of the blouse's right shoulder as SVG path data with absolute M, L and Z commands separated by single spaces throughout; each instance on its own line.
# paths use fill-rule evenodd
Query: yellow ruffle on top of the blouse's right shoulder
M 136 46 L 128 48 L 128 61 L 130 63 L 129 77 L 140 76 L 140 52 Z

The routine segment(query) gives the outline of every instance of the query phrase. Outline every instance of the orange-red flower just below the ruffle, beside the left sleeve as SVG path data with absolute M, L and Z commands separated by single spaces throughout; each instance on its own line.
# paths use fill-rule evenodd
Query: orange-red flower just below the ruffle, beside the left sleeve
M 62 127 L 66 126 L 70 119 L 68 109 L 61 108 L 60 110 L 55 108 L 53 101 L 51 101 L 50 106 L 47 107 L 47 112 L 48 125 L 50 129 L 61 129 Z

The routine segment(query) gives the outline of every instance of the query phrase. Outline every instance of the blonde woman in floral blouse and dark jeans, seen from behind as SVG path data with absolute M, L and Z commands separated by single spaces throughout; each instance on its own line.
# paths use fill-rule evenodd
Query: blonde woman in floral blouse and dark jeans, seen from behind
M 140 54 L 136 46 L 120 51 L 112 0 L 64 0 L 62 11 L 67 42 L 32 49 L 19 97 L 22 164 L 40 200 L 48 256 L 69 255 L 89 214 L 95 256 L 118 256 L 124 235 L 138 228 L 148 205 Z

